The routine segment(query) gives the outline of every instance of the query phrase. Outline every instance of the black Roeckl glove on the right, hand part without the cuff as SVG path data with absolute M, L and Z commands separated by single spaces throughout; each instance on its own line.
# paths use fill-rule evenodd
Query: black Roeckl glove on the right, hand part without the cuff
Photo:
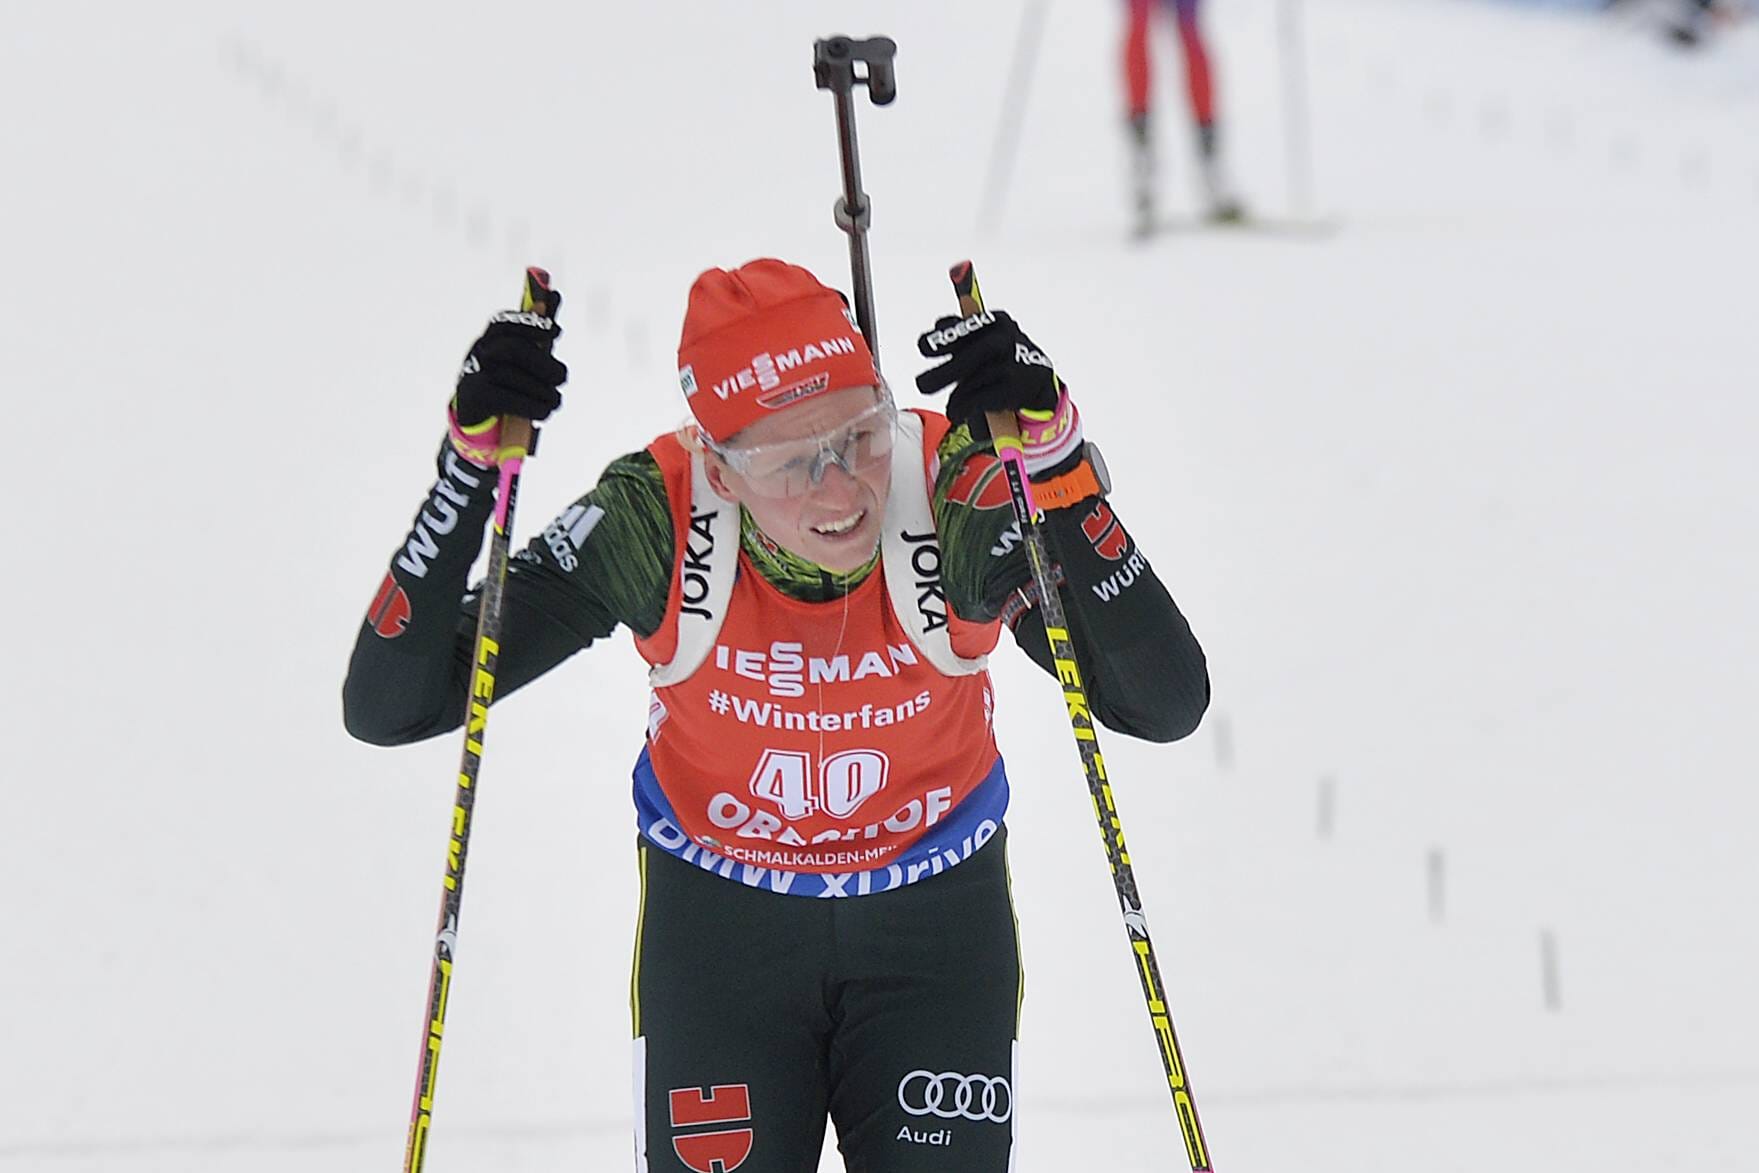
M 952 385 L 946 419 L 969 424 L 973 436 L 989 438 L 985 412 L 1052 412 L 1062 397 L 1050 359 L 1004 310 L 941 318 L 916 350 L 946 359 L 916 376 L 916 390 L 932 396 Z

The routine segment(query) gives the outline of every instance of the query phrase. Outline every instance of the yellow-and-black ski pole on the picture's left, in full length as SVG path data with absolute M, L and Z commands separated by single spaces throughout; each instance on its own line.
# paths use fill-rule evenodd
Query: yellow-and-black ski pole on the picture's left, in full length
M 549 273 L 526 269 L 519 308 L 549 310 Z M 531 420 L 501 417 L 500 484 L 494 492 L 494 536 L 489 540 L 489 572 L 477 612 L 471 652 L 470 712 L 464 719 L 464 756 L 457 767 L 457 797 L 452 804 L 452 842 L 447 848 L 445 888 L 440 893 L 440 927 L 434 934 L 433 969 L 427 974 L 427 1018 L 415 1067 L 415 1104 L 410 1108 L 410 1140 L 403 1150 L 403 1173 L 420 1173 L 427 1159 L 427 1129 L 433 1124 L 434 1076 L 440 1071 L 440 1039 L 445 1032 L 447 995 L 452 990 L 452 960 L 457 950 L 457 913 L 464 899 L 464 856 L 470 851 L 470 816 L 477 805 L 477 776 L 482 770 L 482 739 L 494 700 L 494 668 L 501 654 L 501 593 L 507 587 L 507 552 L 519 498 L 519 468 L 536 448 Z

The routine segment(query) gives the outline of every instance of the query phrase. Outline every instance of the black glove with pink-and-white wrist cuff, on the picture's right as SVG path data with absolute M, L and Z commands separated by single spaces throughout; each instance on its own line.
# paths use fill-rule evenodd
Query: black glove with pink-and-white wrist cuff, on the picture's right
M 1082 452 L 1082 415 L 1050 359 L 1004 310 L 941 318 L 916 339 L 925 359 L 946 359 L 916 376 L 925 396 L 946 390 L 946 417 L 987 440 L 987 412 L 1013 412 L 1034 478 Z

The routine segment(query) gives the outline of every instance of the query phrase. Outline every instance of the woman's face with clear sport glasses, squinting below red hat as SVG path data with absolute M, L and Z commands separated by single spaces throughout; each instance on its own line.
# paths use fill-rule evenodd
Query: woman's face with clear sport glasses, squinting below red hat
M 876 404 L 885 406 L 878 417 Z M 746 427 L 721 445 L 725 457 L 711 448 L 709 484 L 744 505 L 792 554 L 839 573 L 858 570 L 880 545 L 892 489 L 892 419 L 885 392 L 874 387 L 834 390 Z M 883 443 L 869 436 L 878 427 L 887 429 Z M 823 447 L 814 443 L 827 436 Z M 827 450 L 846 459 L 828 459 Z M 799 491 L 785 492 L 785 482 Z

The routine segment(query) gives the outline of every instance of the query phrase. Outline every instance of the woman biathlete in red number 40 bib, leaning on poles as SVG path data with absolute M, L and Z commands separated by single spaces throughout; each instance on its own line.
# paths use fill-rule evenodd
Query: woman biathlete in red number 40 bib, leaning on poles
M 561 406 L 558 297 L 496 315 L 459 373 L 438 480 L 348 665 L 362 740 L 464 719 L 500 420 Z M 816 1169 L 827 1118 L 850 1169 L 1013 1168 L 1024 988 L 987 656 L 1010 631 L 1071 677 L 987 412 L 1020 420 L 1092 716 L 1161 742 L 1208 703 L 1203 649 L 1045 352 L 1001 310 L 941 318 L 918 350 L 936 366 L 916 389 L 950 392 L 945 415 L 894 404 L 806 269 L 702 273 L 677 352 L 691 420 L 616 459 L 508 563 L 494 702 L 619 626 L 651 668 L 633 770 L 642 1173 Z M 591 390 L 580 424 L 610 427 L 630 390 L 598 373 Z M 639 681 L 626 691 L 640 730 Z M 561 737 L 591 818 L 626 820 L 623 767 Z M 584 900 L 626 860 L 595 865 Z

